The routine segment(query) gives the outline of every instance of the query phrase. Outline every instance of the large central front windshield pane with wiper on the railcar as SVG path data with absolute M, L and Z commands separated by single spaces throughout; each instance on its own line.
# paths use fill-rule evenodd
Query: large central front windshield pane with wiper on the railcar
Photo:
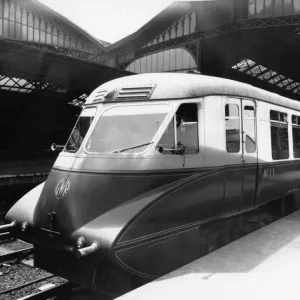
M 86 149 L 97 153 L 139 153 L 149 145 L 170 107 L 166 104 L 113 107 L 99 118 Z

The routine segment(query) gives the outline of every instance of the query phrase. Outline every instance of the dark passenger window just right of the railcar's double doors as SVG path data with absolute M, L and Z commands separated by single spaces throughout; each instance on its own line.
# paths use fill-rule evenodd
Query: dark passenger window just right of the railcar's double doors
M 272 158 L 289 158 L 289 137 L 287 114 L 275 110 L 270 111 Z

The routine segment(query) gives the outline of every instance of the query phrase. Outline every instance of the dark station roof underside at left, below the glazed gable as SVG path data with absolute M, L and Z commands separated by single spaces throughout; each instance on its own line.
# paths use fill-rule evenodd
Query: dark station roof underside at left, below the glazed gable
M 40 90 L 58 88 L 58 92 L 66 89 L 75 93 L 86 93 L 108 80 L 132 74 L 125 70 L 1 40 L 0 57 L 0 84 L 11 91 L 30 93 L 39 87 Z M 63 87 L 63 90 L 60 87 Z

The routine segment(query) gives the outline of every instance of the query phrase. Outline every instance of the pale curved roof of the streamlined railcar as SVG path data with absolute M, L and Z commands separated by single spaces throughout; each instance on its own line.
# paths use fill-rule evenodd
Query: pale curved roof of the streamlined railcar
M 124 87 L 139 86 L 155 86 L 149 100 L 229 95 L 262 100 L 300 111 L 300 103 L 298 101 L 256 88 L 249 84 L 219 77 L 183 73 L 148 73 L 114 79 L 95 89 L 89 96 L 86 104 L 91 104 L 95 95 L 101 90 L 113 91 Z M 131 100 L 128 98 L 126 101 L 130 102 Z M 135 99 L 135 101 L 138 100 Z

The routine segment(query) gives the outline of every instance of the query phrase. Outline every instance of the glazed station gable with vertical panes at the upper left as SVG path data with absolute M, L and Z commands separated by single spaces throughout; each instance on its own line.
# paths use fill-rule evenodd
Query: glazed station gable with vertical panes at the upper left
M 99 42 L 47 9 L 37 1 L 0 0 L 0 39 L 103 63 Z

